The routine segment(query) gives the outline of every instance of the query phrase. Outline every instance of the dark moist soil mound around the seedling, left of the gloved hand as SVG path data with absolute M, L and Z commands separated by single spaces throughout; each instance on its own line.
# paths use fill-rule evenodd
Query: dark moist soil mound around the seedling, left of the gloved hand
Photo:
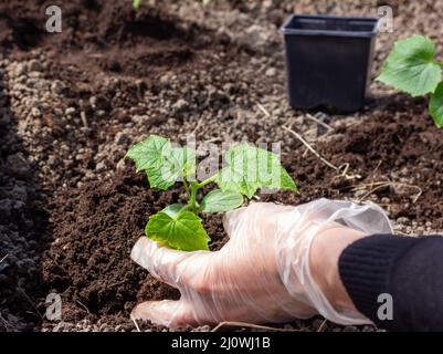
M 55 242 L 45 254 L 43 278 L 52 288 L 48 291 L 68 299 L 65 311 L 73 317 L 66 320 L 78 321 L 87 313 L 127 316 L 137 301 L 179 298 L 177 290 L 135 264 L 129 253 L 144 236 L 148 216 L 181 197 L 178 187 L 148 189 L 146 177 L 130 168 L 109 184 L 94 183 L 55 200 L 64 207 L 53 220 Z M 220 216 L 207 218 L 204 226 L 213 236 L 211 248 L 217 249 L 224 238 Z

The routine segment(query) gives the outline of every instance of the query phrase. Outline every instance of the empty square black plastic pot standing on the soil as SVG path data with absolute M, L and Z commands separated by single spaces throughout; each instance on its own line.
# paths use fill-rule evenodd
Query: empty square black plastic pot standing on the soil
M 292 15 L 281 28 L 291 106 L 361 108 L 377 23 L 375 18 Z

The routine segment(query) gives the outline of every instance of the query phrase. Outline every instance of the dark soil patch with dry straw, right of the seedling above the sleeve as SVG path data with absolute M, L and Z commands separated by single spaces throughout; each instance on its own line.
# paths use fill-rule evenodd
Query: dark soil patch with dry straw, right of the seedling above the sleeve
M 279 201 L 297 204 L 320 196 L 355 198 L 355 188 L 368 185 L 365 191 L 393 220 L 408 218 L 423 225 L 432 220 L 435 229 L 442 229 L 443 134 L 429 118 L 426 105 L 423 98 L 393 96 L 365 124 L 338 126 L 330 138 L 318 143 L 323 157 L 336 166 L 348 163 L 348 174 L 359 178 L 337 176 L 314 155 L 286 156 L 283 162 L 298 181 L 302 200 L 291 196 Z M 378 188 L 378 183 L 387 186 Z

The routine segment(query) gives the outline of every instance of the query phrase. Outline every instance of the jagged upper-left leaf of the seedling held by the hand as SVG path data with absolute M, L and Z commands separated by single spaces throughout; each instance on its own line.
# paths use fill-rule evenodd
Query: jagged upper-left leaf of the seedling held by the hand
M 152 188 L 162 190 L 172 186 L 178 177 L 196 170 L 196 156 L 191 149 L 172 147 L 169 139 L 158 135 L 150 135 L 134 145 L 125 157 L 135 162 L 137 171 L 146 171 Z

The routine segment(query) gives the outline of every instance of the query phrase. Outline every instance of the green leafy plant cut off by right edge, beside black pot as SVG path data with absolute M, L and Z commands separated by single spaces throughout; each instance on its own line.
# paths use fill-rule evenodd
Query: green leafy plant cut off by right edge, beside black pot
M 413 97 L 431 95 L 429 112 L 435 125 L 443 127 L 442 62 L 434 58 L 435 44 L 428 37 L 413 35 L 395 42 L 381 74 L 377 77 Z

